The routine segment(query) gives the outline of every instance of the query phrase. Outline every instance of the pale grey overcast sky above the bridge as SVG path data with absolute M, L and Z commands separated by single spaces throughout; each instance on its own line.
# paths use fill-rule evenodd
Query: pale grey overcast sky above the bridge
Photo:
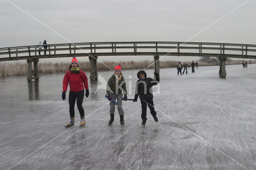
M 0 1 L 0 47 L 52 43 L 185 42 L 246 0 Z M 189 42 L 256 44 L 256 1 L 249 0 Z M 57 32 L 53 32 L 52 30 Z M 64 38 L 63 38 L 64 37 Z M 65 39 L 66 38 L 66 39 Z M 69 41 L 68 41 L 69 40 Z

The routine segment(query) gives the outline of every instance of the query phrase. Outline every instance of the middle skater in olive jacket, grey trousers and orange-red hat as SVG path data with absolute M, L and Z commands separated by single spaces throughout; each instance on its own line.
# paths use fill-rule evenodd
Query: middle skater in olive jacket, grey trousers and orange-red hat
M 122 91 L 124 93 L 124 101 L 127 101 L 127 91 L 124 76 L 121 73 L 121 65 L 118 64 L 114 69 L 114 74 L 108 79 L 108 84 L 106 87 L 106 92 L 109 101 L 116 101 L 117 99 L 117 110 L 120 116 L 120 124 L 124 124 L 124 110 L 122 109 Z M 115 104 L 110 102 L 110 121 L 108 123 L 111 125 L 114 122 Z

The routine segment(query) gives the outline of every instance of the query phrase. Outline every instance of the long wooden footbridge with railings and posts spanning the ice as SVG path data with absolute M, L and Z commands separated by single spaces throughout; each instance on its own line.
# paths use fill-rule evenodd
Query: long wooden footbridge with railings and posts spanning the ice
M 44 45 L 42 44 L 42 47 Z M 96 61 L 98 56 L 152 55 L 155 71 L 159 73 L 159 56 L 218 57 L 220 77 L 226 77 L 225 61 L 230 58 L 256 59 L 256 45 L 208 42 L 88 42 L 47 44 L 46 55 L 38 55 L 38 45 L 0 48 L 0 61 L 26 59 L 28 81 L 39 79 L 40 58 L 89 57 L 90 79 L 97 79 Z M 32 70 L 32 62 L 34 70 Z M 32 77 L 34 75 L 34 77 Z

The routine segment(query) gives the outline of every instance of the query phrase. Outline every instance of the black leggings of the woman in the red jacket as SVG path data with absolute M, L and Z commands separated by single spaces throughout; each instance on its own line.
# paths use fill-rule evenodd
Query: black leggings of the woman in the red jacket
M 69 103 L 69 114 L 70 117 L 75 117 L 75 103 L 78 107 L 78 111 L 80 113 L 80 117 L 84 117 L 84 108 L 82 107 L 84 100 L 84 90 L 79 91 L 77 93 L 69 92 L 68 103 Z

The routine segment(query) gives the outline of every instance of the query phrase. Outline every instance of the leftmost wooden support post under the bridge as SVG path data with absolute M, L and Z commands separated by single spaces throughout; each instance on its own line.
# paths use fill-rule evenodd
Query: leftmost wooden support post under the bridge
M 38 74 L 38 58 L 34 59 L 27 59 L 28 63 L 28 81 L 32 81 L 32 79 L 35 79 L 36 81 L 39 80 L 39 74 Z M 32 62 L 34 63 L 34 70 L 32 69 Z M 34 77 L 32 77 L 34 75 Z

